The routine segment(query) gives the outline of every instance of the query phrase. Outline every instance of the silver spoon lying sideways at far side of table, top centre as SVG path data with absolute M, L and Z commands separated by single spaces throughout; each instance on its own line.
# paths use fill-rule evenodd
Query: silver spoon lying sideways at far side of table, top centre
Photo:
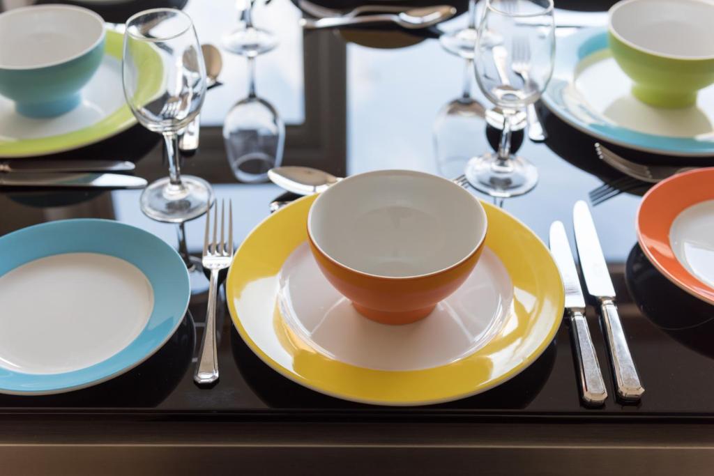
M 301 19 L 304 29 L 333 28 L 373 23 L 396 23 L 407 29 L 426 28 L 450 19 L 456 14 L 456 8 L 450 5 L 428 6 L 402 11 L 399 14 L 364 15 L 355 17 L 334 17 L 318 20 Z

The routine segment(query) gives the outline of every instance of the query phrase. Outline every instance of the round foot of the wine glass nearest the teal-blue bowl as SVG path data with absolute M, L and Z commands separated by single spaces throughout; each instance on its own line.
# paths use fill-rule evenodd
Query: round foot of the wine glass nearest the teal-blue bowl
M 159 178 L 144 188 L 139 200 L 141 211 L 152 220 L 181 223 L 198 218 L 213 203 L 211 185 L 194 176 L 181 176 L 174 185 L 169 177 Z

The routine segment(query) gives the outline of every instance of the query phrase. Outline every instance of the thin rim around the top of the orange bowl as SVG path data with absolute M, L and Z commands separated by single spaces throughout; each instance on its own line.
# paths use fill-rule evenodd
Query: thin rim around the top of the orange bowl
M 361 178 L 364 176 L 389 175 L 389 174 L 395 173 L 395 172 L 403 173 L 405 175 L 411 175 L 411 176 L 426 176 L 429 179 L 444 181 L 446 183 L 451 184 L 454 187 L 457 187 L 461 192 L 466 193 L 473 200 L 473 202 L 476 203 L 476 208 L 478 209 L 478 211 L 480 211 L 480 215 L 482 218 L 483 230 L 481 231 L 481 237 L 476 241 L 476 245 L 474 245 L 473 249 L 471 251 L 469 251 L 467 255 L 463 256 L 463 258 L 458 260 L 456 263 L 448 265 L 445 268 L 431 271 L 430 273 L 424 273 L 424 274 L 419 274 L 419 275 L 408 275 L 408 276 L 385 276 L 385 275 L 379 275 L 379 274 L 373 274 L 373 273 L 366 273 L 365 271 L 357 270 L 355 268 L 352 268 L 351 266 L 341 263 L 340 261 L 333 258 L 331 255 L 328 255 L 328 253 L 326 253 L 325 250 L 323 250 L 323 248 L 321 248 L 321 246 L 318 245 L 317 240 L 313 237 L 312 228 L 311 228 L 313 211 L 315 210 L 316 203 L 318 203 L 321 199 L 323 199 L 323 197 L 326 196 L 326 194 L 329 191 L 331 191 L 333 188 L 340 186 L 341 183 L 345 183 L 345 182 L 351 181 L 355 178 Z M 486 233 L 488 233 L 488 216 L 486 215 L 486 209 L 483 208 L 483 205 L 481 204 L 481 201 L 478 199 L 478 197 L 474 196 L 472 193 L 467 191 L 466 188 L 458 186 L 453 181 L 448 180 L 448 178 L 443 178 L 440 176 L 433 175 L 431 173 L 425 173 L 425 172 L 419 172 L 419 171 L 409 171 L 409 170 L 402 170 L 402 169 L 386 169 L 386 170 L 381 170 L 381 171 L 357 173 L 353 176 L 343 178 L 341 181 L 338 181 L 334 185 L 330 186 L 326 191 L 320 193 L 318 198 L 316 198 L 315 201 L 310 206 L 310 211 L 308 212 L 308 219 L 307 219 L 307 231 L 308 231 L 308 240 L 310 240 L 310 243 L 320 252 L 320 254 L 323 255 L 331 263 L 338 266 L 339 268 L 342 268 L 343 270 L 348 270 L 351 273 L 356 273 L 358 275 L 361 275 L 364 278 L 374 278 L 374 279 L 389 280 L 389 281 L 408 281 L 408 280 L 431 278 L 436 275 L 441 275 L 441 274 L 446 273 L 450 270 L 458 268 L 459 266 L 463 265 L 463 263 L 466 263 L 468 260 L 470 260 L 474 254 L 478 253 L 478 250 L 483 248 L 483 243 L 485 243 L 485 241 L 486 241 Z

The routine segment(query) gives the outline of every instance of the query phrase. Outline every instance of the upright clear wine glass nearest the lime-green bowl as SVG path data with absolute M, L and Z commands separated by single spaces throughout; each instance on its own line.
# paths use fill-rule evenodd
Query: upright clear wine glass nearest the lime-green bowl
M 468 162 L 466 178 L 493 197 L 523 195 L 538 183 L 538 170 L 511 153 L 511 131 L 514 116 L 538 100 L 553 74 L 553 0 L 486 0 L 478 33 L 476 80 L 503 110 L 503 133 L 497 153 Z

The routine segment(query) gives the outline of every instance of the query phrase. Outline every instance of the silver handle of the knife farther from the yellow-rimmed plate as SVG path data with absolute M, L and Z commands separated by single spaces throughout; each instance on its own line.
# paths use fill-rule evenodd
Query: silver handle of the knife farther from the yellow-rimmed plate
M 620 315 L 618 315 L 618 308 L 613 300 L 603 299 L 600 309 L 603 311 L 603 327 L 605 328 L 605 338 L 608 340 L 610 363 L 613 365 L 618 396 L 623 400 L 639 400 L 645 393 L 645 389 L 640 383 L 640 376 L 635 368 L 635 362 L 632 360 L 625 332 L 620 322 Z

